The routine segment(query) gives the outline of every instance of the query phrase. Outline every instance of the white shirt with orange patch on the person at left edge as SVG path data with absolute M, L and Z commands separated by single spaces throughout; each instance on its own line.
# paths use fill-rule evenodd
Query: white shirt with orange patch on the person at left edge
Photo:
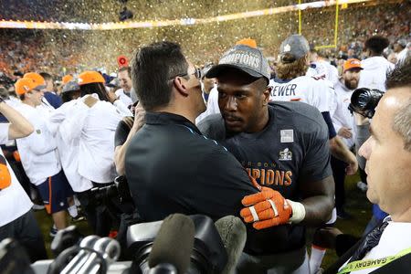
M 0 143 L 8 142 L 9 126 L 8 123 L 0 123 Z M 31 203 L 23 187 L 17 181 L 16 174 L 8 164 L 1 149 L 0 179 L 2 185 L 8 185 L 0 190 L 0 227 L 3 227 L 26 214 L 33 206 L 33 203 Z

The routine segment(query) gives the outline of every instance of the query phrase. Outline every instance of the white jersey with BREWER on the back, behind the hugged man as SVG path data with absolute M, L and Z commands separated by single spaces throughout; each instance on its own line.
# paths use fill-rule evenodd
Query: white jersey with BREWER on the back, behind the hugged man
M 300 76 L 295 79 L 270 79 L 269 100 L 301 101 L 317 108 L 320 112 L 331 111 L 331 92 L 329 84 L 321 79 Z

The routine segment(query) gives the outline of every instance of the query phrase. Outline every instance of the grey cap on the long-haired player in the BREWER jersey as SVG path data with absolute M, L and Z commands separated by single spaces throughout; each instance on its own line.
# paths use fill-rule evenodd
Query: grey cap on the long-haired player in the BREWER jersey
M 281 46 L 279 47 L 279 58 L 281 62 L 286 63 L 284 62 L 283 57 L 289 55 L 294 58 L 292 61 L 295 61 L 307 55 L 309 51 L 310 45 L 305 37 L 292 35 L 282 41 Z M 292 61 L 288 60 L 288 62 Z

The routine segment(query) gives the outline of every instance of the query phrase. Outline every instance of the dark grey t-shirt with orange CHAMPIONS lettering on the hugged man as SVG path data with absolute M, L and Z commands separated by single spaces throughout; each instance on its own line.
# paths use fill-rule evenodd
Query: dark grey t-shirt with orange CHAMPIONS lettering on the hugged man
M 269 123 L 261 132 L 226 132 L 220 114 L 205 118 L 198 128 L 227 147 L 258 184 L 277 190 L 290 200 L 302 198 L 300 184 L 332 175 L 327 125 L 321 113 L 310 105 L 270 103 Z M 304 227 L 283 225 L 256 230 L 248 226 L 246 251 L 273 254 L 301 248 L 304 242 Z

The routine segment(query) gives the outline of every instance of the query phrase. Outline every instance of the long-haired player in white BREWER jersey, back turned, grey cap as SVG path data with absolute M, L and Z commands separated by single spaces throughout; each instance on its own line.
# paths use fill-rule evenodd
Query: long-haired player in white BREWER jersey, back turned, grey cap
M 317 108 L 328 126 L 332 156 L 347 164 L 346 174 L 355 174 L 358 169 L 356 157 L 337 136 L 332 125 L 332 84 L 322 78 L 306 76 L 310 64 L 309 51 L 307 39 L 300 35 L 291 35 L 281 43 L 276 78 L 269 81 L 272 88 L 269 99 L 301 101 Z M 333 210 L 327 224 L 332 224 L 335 219 L 336 210 Z M 325 249 L 318 247 L 314 241 L 311 249 L 311 270 L 320 267 L 324 254 Z

